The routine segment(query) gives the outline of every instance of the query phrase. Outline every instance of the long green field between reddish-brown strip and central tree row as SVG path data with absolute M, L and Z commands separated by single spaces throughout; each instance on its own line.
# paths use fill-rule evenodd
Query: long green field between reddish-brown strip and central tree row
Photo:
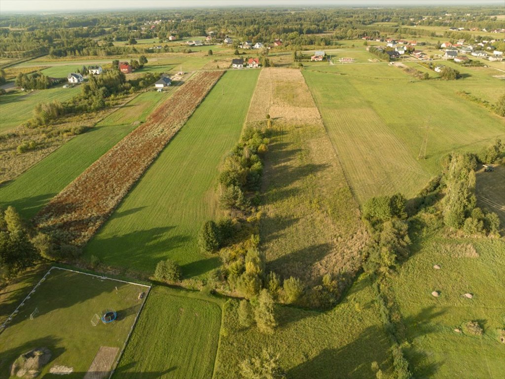
M 166 258 L 184 276 L 219 265 L 197 233 L 216 213 L 218 166 L 237 142 L 259 70 L 227 72 L 85 249 L 104 264 L 152 273 Z

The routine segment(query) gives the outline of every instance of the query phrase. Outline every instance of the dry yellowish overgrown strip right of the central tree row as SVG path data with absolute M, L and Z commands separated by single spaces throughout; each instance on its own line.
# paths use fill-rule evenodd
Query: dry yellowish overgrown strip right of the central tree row
M 343 281 L 361 265 L 366 232 L 299 70 L 263 69 L 247 120 L 273 120 L 262 184 L 261 248 L 283 277 Z

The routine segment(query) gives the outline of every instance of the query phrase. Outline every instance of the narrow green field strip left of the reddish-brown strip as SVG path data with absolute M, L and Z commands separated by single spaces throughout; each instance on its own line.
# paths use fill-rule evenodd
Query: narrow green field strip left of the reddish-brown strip
M 25 218 L 34 216 L 90 164 L 112 148 L 172 91 L 141 93 L 94 128 L 72 138 L 14 181 L 0 187 L 0 206 L 12 205 Z

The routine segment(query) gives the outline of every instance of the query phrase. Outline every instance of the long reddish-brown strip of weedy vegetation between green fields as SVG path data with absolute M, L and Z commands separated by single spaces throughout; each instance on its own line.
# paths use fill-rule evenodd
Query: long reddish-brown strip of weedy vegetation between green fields
M 35 217 L 61 244 L 84 246 L 184 125 L 224 71 L 199 72 Z

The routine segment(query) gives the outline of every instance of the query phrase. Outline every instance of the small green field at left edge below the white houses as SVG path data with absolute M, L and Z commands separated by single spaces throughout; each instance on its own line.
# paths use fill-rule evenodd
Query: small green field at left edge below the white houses
M 32 117 L 32 111 L 38 103 L 53 100 L 63 102 L 80 93 L 79 86 L 74 88 L 38 89 L 33 92 L 8 93 L 0 97 L 0 133 L 21 125 Z

